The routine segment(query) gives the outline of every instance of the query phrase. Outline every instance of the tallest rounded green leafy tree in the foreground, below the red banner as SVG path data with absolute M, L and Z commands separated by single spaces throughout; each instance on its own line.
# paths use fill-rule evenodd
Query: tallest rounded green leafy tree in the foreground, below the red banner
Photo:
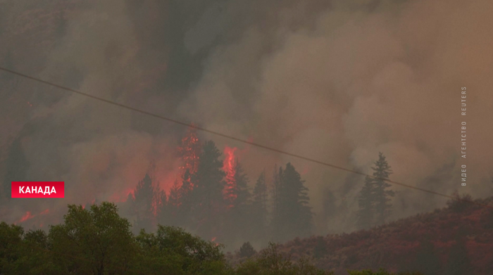
M 65 223 L 51 226 L 54 261 L 63 274 L 124 274 L 135 253 L 130 223 L 113 203 L 90 210 L 69 205 Z

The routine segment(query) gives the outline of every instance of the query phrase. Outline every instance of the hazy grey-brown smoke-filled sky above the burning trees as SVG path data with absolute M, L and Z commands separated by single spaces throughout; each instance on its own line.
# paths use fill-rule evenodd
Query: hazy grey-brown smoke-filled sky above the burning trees
M 20 0 L 0 1 L 0 8 L 4 66 L 362 172 L 371 172 L 382 152 L 395 181 L 492 194 L 491 1 Z M 161 187 L 173 184 L 184 127 L 0 77 L 1 219 L 123 200 L 150 160 Z M 323 194 L 335 197 L 339 220 L 318 231 L 354 229 L 347 221 L 363 177 L 201 138 L 221 150 L 239 147 L 251 184 L 264 169 L 292 162 L 316 213 Z M 467 187 L 460 186 L 463 164 Z M 66 198 L 9 199 L 14 179 L 65 181 Z M 444 205 L 443 198 L 393 188 L 396 219 Z

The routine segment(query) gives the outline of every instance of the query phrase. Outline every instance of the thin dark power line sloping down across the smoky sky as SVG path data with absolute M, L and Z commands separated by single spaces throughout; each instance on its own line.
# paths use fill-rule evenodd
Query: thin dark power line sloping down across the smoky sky
M 13 70 L 8 70 L 6 68 L 0 67 L 0 70 L 3 70 L 5 72 L 10 72 L 11 74 L 18 75 L 20 77 L 25 77 L 27 79 L 32 79 L 32 80 L 35 80 L 36 82 L 41 82 L 43 84 L 47 84 L 47 85 L 52 86 L 52 87 L 63 89 L 65 91 L 71 91 L 71 92 L 73 92 L 75 94 L 79 94 L 81 96 L 86 96 L 88 98 L 96 99 L 98 101 L 103 101 L 103 102 L 108 103 L 108 104 L 111 104 L 111 105 L 116 105 L 118 107 L 125 108 L 127 110 L 132 110 L 132 111 L 135 111 L 137 113 L 142 113 L 144 115 L 149 115 L 151 117 L 156 117 L 156 118 L 161 119 L 161 120 L 166 120 L 166 121 L 169 121 L 169 122 L 173 122 L 175 124 L 180 124 L 180 125 L 183 125 L 183 126 L 191 127 L 191 128 L 200 130 L 202 132 L 206 132 L 206 133 L 209 133 L 209 134 L 214 134 L 216 136 L 222 136 L 222 137 L 224 137 L 226 139 L 231 139 L 231 140 L 238 141 L 238 142 L 241 142 L 241 143 L 246 143 L 246 144 L 249 144 L 251 146 L 256 146 L 258 148 L 266 149 L 268 151 L 273 151 L 273 152 L 280 153 L 280 154 L 283 154 L 283 155 L 289 155 L 289 156 L 294 157 L 294 158 L 299 158 L 301 160 L 306 160 L 308 162 L 314 162 L 314 163 L 317 163 L 319 165 L 324 165 L 324 166 L 327 166 L 327 167 L 332 167 L 332 168 L 335 168 L 337 170 L 342 170 L 342 171 L 346 171 L 346 172 L 350 172 L 350 173 L 354 173 L 354 174 L 359 174 L 361 176 L 371 177 L 373 179 L 380 179 L 380 180 L 388 181 L 391 184 L 396 184 L 396 185 L 399 185 L 399 186 L 404 186 L 406 188 L 411 188 L 411 189 L 414 189 L 414 190 L 423 191 L 423 192 L 426 192 L 426 193 L 431 193 L 433 195 L 442 196 L 442 197 L 445 197 L 445 198 L 451 198 L 451 199 L 459 200 L 459 201 L 470 202 L 470 203 L 482 205 L 482 206 L 485 206 L 485 207 L 490 207 L 489 205 L 484 205 L 482 203 L 477 203 L 477 202 L 474 202 L 472 200 L 464 200 L 464 199 L 458 198 L 456 196 L 449 196 L 447 194 L 438 193 L 438 192 L 431 191 L 431 190 L 428 190 L 428 189 L 425 189 L 425 188 L 419 188 L 419 187 L 411 186 L 411 185 L 408 185 L 408 184 L 401 184 L 400 182 L 392 181 L 390 179 L 382 179 L 382 178 L 373 177 L 373 176 L 371 176 L 369 174 L 365 174 L 365 173 L 358 172 L 358 171 L 355 171 L 355 170 L 350 170 L 350 169 L 347 169 L 347 168 L 344 168 L 344 167 L 340 167 L 340 166 L 337 166 L 337 165 L 332 165 L 330 163 L 322 162 L 320 160 L 314 160 L 312 158 L 307 158 L 307 157 L 304 157 L 302 155 L 297 155 L 297 154 L 294 154 L 294 153 L 289 153 L 287 151 L 282 151 L 282 150 L 279 150 L 279 149 L 276 149 L 276 148 L 272 148 L 272 147 L 269 147 L 269 146 L 264 146 L 262 144 L 254 143 L 254 142 L 247 141 L 247 140 L 244 140 L 244 139 L 238 139 L 235 136 L 229 136 L 227 134 L 222 134 L 220 132 L 216 132 L 216 131 L 212 131 L 212 130 L 209 130 L 209 129 L 205 129 L 205 128 L 199 127 L 197 125 L 194 125 L 194 124 L 189 124 L 189 123 L 186 123 L 186 122 L 181 122 L 179 120 L 173 120 L 173 119 L 171 119 L 169 117 L 163 117 L 162 115 L 156 115 L 154 113 L 150 113 L 150 112 L 147 112 L 145 110 L 140 110 L 140 109 L 137 109 L 137 108 L 133 108 L 133 107 L 130 107 L 128 105 L 123 105 L 121 103 L 116 103 L 116 102 L 113 102 L 113 101 L 108 101 L 108 99 L 100 98 L 98 96 L 92 96 L 90 94 L 83 93 L 82 91 L 77 91 L 75 89 L 70 89 L 68 87 L 63 87 L 61 85 L 54 84 L 54 83 L 51 83 L 51 82 L 47 82 L 45 80 L 42 80 L 42 79 L 39 79 L 39 78 L 36 78 L 36 77 L 31 77 L 30 75 L 24 75 L 23 73 L 15 72 Z M 493 208 L 493 207 L 491 207 L 491 208 Z

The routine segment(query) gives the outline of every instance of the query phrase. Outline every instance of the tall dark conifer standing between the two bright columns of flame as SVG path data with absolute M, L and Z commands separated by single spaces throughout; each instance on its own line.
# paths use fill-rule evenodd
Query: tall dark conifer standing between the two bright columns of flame
M 194 220 L 197 231 L 203 238 L 218 235 L 221 216 L 225 208 L 223 189 L 225 172 L 219 160 L 220 151 L 213 141 L 206 141 L 200 155 L 197 172 L 192 175 L 192 200 L 194 201 Z

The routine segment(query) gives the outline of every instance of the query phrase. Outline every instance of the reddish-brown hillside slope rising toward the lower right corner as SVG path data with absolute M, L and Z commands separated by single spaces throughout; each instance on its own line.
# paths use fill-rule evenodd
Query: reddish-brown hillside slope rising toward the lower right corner
M 493 198 L 450 200 L 448 207 L 350 234 L 295 238 L 279 250 L 293 259 L 310 256 L 316 266 L 419 270 L 430 275 L 488 275 L 493 269 Z M 469 203 L 467 200 L 482 205 Z M 231 255 L 232 256 L 232 255 Z M 237 254 L 230 260 L 241 259 Z

